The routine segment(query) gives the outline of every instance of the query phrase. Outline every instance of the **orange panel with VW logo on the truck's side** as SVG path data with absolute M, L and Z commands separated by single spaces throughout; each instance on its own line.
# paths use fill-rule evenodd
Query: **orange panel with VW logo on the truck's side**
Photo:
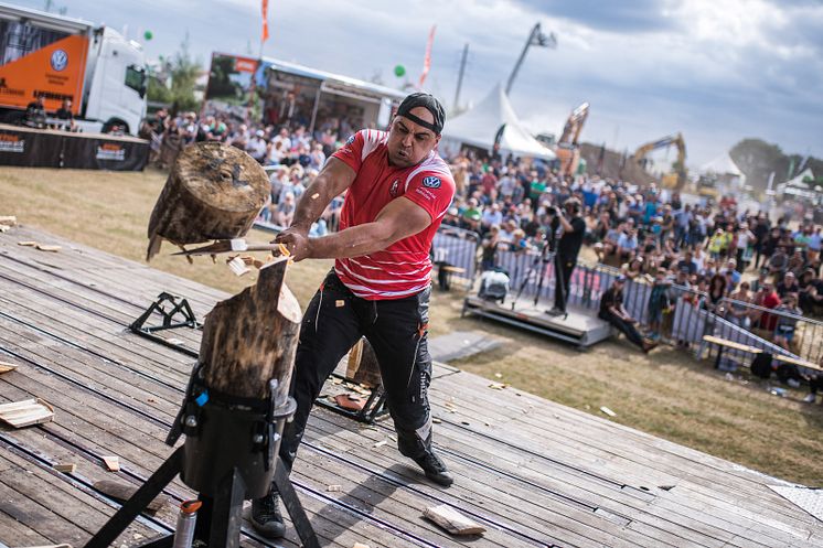
M 88 39 L 72 35 L 0 66 L 0 105 L 25 108 L 42 94 L 46 111 L 68 98 L 79 114 L 87 52 Z

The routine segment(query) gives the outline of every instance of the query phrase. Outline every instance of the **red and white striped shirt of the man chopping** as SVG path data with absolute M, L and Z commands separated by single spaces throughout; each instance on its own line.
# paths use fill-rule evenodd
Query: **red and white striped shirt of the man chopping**
M 372 223 L 386 204 L 400 196 L 426 209 L 431 224 L 381 251 L 334 261 L 340 280 L 367 300 L 400 299 L 429 286 L 431 240 L 455 197 L 451 172 L 437 152 L 432 150 L 417 165 L 393 168 L 387 140 L 386 131 L 364 129 L 333 154 L 356 173 L 345 195 L 340 229 Z

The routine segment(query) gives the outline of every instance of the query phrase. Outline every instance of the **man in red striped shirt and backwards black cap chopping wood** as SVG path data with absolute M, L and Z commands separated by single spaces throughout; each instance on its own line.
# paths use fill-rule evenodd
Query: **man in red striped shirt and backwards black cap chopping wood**
M 435 151 L 445 118 L 434 96 L 406 97 L 388 131 L 362 130 L 329 159 L 291 226 L 275 239 L 297 261 L 335 259 L 303 315 L 291 385 L 298 407 L 280 445 L 289 471 L 323 383 L 365 336 L 380 363 L 400 453 L 432 482 L 451 485 L 431 445 L 427 396 L 429 249 L 455 195 L 451 172 Z M 343 191 L 340 232 L 310 239 L 311 224 Z M 267 537 L 285 533 L 278 498 L 271 493 L 253 503 L 252 523 Z

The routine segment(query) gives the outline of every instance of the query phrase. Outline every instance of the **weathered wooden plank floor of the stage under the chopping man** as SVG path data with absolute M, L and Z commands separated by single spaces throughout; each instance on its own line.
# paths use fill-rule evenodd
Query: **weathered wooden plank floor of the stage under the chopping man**
M 0 544 L 83 545 L 118 507 L 94 482 L 140 484 L 171 453 L 163 439 L 193 358 L 126 330 L 161 291 L 188 298 L 199 318 L 226 298 L 25 227 L 0 235 L 0 359 L 19 364 L 0 375 L 0 401 L 40 397 L 55 408 L 46 425 L 0 428 Z M 167 336 L 199 345 L 196 331 Z M 436 443 L 457 479 L 449 490 L 397 452 L 389 420 L 365 427 L 316 409 L 292 480 L 323 546 L 823 546 L 823 525 L 768 488 L 779 480 L 489 384 L 436 367 Z M 122 470 L 107 472 L 104 455 L 118 455 Z M 56 463 L 77 469 L 60 473 Z M 167 494 L 193 496 L 179 480 Z M 436 504 L 487 534 L 440 531 L 421 518 Z M 167 533 L 174 518 L 173 504 L 142 516 L 115 546 Z M 299 545 L 291 530 L 267 545 L 247 526 L 243 542 Z

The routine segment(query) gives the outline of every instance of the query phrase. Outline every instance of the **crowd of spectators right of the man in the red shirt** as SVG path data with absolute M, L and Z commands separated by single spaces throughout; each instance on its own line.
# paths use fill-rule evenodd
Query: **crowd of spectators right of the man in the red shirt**
M 575 196 L 585 204 L 590 257 L 652 286 L 652 339 L 680 300 L 790 348 L 791 315 L 823 308 L 821 227 L 810 218 L 771 219 L 731 196 L 713 203 L 654 185 L 563 178 L 542 162 L 461 155 L 451 163 L 458 196 L 443 224 L 481 235 L 482 269 L 498 265 L 500 250 L 541 252 L 552 239 L 551 212 Z

